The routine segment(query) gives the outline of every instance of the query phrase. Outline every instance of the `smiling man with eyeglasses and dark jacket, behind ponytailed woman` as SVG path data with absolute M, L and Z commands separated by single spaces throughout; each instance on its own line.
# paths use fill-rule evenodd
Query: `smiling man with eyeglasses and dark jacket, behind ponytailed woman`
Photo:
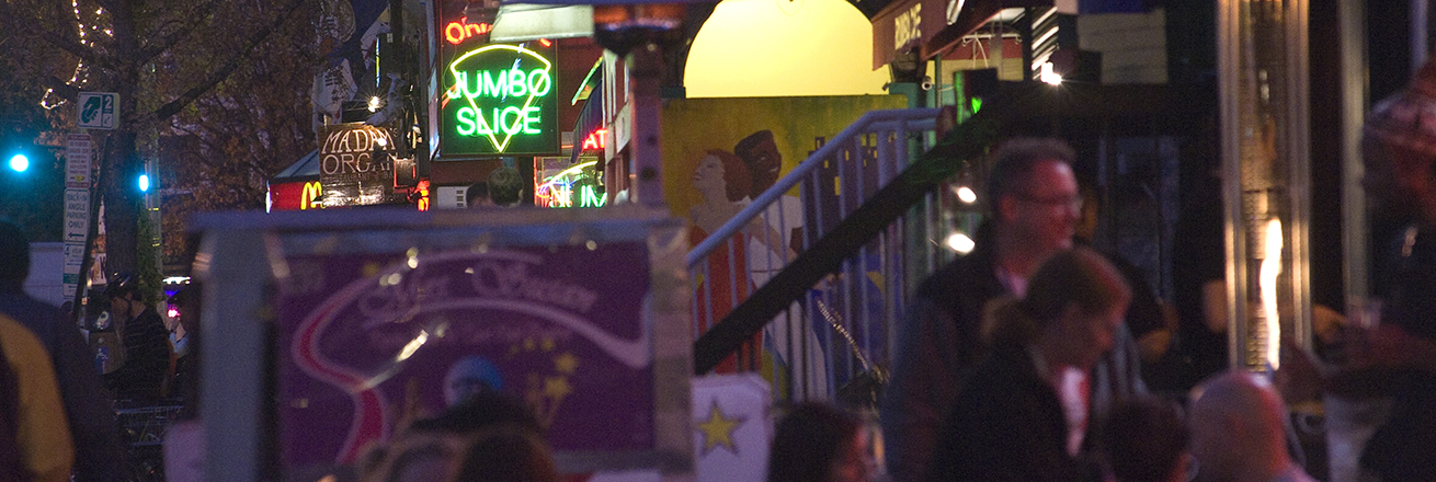
M 954 397 L 966 373 L 987 354 L 981 336 L 987 303 L 1021 297 L 1028 277 L 1048 255 L 1073 247 L 1081 217 L 1074 159 L 1073 149 L 1058 139 L 1018 138 L 1004 143 L 988 174 L 989 218 L 976 232 L 976 247 L 918 288 L 882 402 L 886 463 L 895 482 L 928 478 Z M 1081 390 L 1090 392 L 1091 406 L 1067 407 L 1068 426 L 1090 426 L 1087 413 L 1103 413 L 1111 402 L 1146 392 L 1126 324 L 1093 373 L 1071 377 L 1054 380 L 1060 392 L 1071 392 L 1063 393 L 1064 406 L 1067 400 L 1087 399 L 1076 393 Z

